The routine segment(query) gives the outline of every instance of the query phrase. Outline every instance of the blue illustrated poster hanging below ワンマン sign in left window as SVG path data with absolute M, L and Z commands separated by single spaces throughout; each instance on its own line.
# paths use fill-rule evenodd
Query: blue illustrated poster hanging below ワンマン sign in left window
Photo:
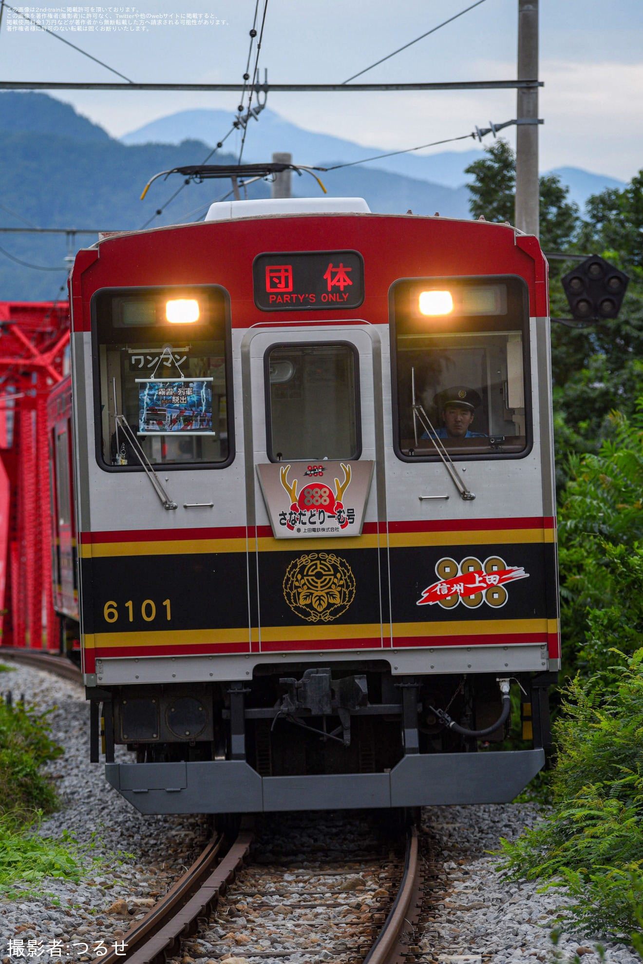
M 139 435 L 212 434 L 211 378 L 137 378 Z

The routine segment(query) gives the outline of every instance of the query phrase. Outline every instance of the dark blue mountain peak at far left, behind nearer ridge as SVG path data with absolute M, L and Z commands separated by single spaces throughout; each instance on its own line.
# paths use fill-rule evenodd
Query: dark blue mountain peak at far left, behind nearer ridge
M 104 143 L 110 140 L 106 130 L 76 114 L 71 104 L 32 92 L 5 91 L 0 94 L 0 131 L 58 134 L 74 141 Z

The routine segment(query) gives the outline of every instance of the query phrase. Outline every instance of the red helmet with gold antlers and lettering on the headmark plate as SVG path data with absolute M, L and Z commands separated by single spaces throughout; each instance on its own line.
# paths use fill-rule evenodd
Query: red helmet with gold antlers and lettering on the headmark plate
M 280 524 L 291 531 L 296 527 L 314 527 L 318 531 L 326 526 L 327 520 L 332 521 L 331 527 L 345 529 L 355 522 L 355 509 L 344 508 L 342 501 L 344 493 L 351 484 L 351 467 L 340 463 L 344 473 L 344 480 L 335 478 L 335 491 L 326 482 L 307 482 L 297 496 L 297 479 L 288 482 L 290 466 L 281 466 L 281 485 L 290 496 L 290 511 L 280 513 Z M 321 470 L 320 470 L 321 469 Z M 308 466 L 305 475 L 321 475 L 321 466 Z

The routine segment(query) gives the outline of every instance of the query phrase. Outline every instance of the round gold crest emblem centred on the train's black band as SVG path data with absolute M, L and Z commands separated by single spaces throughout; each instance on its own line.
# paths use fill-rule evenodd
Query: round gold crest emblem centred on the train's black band
M 331 623 L 355 599 L 355 576 L 334 552 L 308 552 L 288 566 L 283 596 L 308 623 Z

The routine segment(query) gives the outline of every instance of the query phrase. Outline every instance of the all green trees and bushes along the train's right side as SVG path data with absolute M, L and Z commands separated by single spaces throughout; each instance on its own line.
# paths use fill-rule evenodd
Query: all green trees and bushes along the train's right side
M 497 142 L 469 168 L 471 211 L 513 220 L 515 159 Z M 564 886 L 561 923 L 625 936 L 643 953 L 643 172 L 591 198 L 581 219 L 541 178 L 545 251 L 602 254 L 627 271 L 620 317 L 551 326 L 563 667 L 552 809 L 503 842 L 514 877 Z M 568 318 L 552 260 L 551 315 Z M 539 788 L 542 793 L 542 784 Z

